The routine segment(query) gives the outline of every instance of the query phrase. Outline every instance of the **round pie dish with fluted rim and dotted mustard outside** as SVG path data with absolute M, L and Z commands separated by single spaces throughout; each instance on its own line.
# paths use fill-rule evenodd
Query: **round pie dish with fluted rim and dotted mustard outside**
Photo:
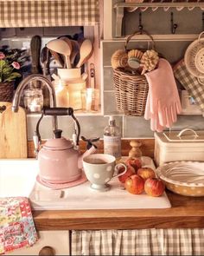
M 173 161 L 157 167 L 156 174 L 175 194 L 204 196 L 204 162 Z

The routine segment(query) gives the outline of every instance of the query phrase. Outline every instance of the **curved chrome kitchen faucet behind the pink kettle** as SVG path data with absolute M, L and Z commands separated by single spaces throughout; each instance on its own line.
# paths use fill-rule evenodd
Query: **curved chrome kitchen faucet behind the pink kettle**
M 13 112 L 18 111 L 23 89 L 25 89 L 25 87 L 28 85 L 29 82 L 34 82 L 34 81 L 43 82 L 48 87 L 50 107 L 53 107 L 53 108 L 56 107 L 56 96 L 55 96 L 55 91 L 54 91 L 52 82 L 48 80 L 48 78 L 44 75 L 35 74 L 35 75 L 27 76 L 22 80 L 22 82 L 19 83 L 13 99 L 13 104 L 12 104 Z M 56 115 L 53 116 L 53 130 L 55 129 L 57 129 Z

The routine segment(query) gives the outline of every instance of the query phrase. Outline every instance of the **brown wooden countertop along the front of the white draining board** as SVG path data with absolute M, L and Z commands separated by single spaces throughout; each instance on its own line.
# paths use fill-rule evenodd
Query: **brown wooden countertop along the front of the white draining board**
M 167 191 L 168 209 L 35 211 L 37 230 L 204 228 L 204 198 Z

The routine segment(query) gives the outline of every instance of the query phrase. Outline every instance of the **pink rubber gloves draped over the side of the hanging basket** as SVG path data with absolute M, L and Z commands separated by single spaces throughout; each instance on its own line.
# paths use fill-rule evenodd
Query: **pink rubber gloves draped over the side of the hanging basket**
M 157 123 L 158 116 L 155 127 L 170 128 L 182 111 L 171 65 L 161 58 L 158 68 L 144 75 L 149 83 L 149 117 L 155 120 L 153 123 Z

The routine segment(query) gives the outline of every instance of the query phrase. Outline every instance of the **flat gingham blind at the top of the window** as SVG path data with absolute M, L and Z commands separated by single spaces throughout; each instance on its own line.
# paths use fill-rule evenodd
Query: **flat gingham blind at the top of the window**
M 0 28 L 93 26 L 99 0 L 0 0 Z

